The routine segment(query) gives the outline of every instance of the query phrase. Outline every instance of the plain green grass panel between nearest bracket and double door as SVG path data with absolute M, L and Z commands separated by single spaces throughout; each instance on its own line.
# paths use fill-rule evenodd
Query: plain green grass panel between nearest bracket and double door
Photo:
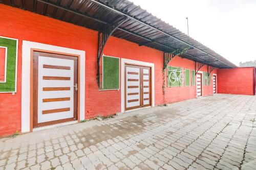
M 103 56 L 102 89 L 119 89 L 119 58 Z

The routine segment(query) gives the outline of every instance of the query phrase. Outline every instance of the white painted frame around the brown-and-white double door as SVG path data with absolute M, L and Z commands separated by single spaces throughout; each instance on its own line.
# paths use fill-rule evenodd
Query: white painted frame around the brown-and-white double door
M 124 59 L 121 58 L 121 112 L 125 112 L 125 108 L 124 108 L 124 102 L 125 102 L 125 94 L 124 94 L 124 74 L 125 74 L 125 68 L 124 65 L 125 64 L 134 64 L 134 65 L 143 65 L 143 66 L 149 66 L 152 68 L 151 70 L 151 75 L 152 75 L 152 83 L 151 83 L 151 88 L 152 88 L 152 102 L 151 105 L 152 107 L 155 106 L 155 64 L 154 63 L 148 63 L 148 62 L 143 62 L 143 61 L 137 61 L 137 60 L 130 60 L 130 59 Z M 143 108 L 139 108 L 139 109 L 143 109 Z M 137 109 L 134 109 L 137 110 Z M 129 110 L 132 111 L 132 110 Z

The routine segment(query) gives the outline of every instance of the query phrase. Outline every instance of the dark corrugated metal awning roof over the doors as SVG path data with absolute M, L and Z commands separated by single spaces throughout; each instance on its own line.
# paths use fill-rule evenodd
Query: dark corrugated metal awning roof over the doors
M 96 31 L 128 17 L 113 36 L 163 52 L 190 47 L 181 57 L 208 61 L 219 68 L 237 67 L 207 46 L 127 0 L 2 0 L 4 4 L 74 23 Z

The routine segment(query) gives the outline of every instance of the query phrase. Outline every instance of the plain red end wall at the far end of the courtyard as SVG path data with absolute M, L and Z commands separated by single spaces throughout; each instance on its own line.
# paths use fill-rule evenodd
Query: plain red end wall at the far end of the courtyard
M 218 69 L 217 73 L 218 93 L 255 94 L 255 67 Z

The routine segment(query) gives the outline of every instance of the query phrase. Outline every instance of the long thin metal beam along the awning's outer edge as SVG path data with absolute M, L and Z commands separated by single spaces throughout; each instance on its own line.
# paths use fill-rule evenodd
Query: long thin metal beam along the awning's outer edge
M 184 44 L 186 44 L 186 45 L 188 45 L 188 46 L 190 46 L 190 47 L 193 47 L 193 48 L 197 49 L 197 50 L 200 51 L 200 52 L 203 52 L 203 53 L 205 53 L 205 54 L 207 54 L 207 55 L 209 55 L 209 56 L 211 56 L 211 57 L 213 57 L 213 58 L 215 58 L 215 59 L 218 59 L 218 58 L 216 58 L 215 56 L 212 56 L 212 55 L 210 55 L 210 54 L 208 54 L 208 53 L 206 53 L 206 52 L 200 50 L 199 48 L 197 48 L 197 47 L 195 47 L 195 46 L 193 46 L 193 45 L 190 45 L 190 44 L 188 44 L 187 42 L 185 42 L 185 41 L 183 41 L 183 40 L 181 40 L 181 39 L 179 39 L 179 38 L 176 38 L 176 37 L 174 37 L 174 36 L 172 36 L 172 35 L 170 35 L 170 34 L 168 34 L 168 33 L 165 33 L 164 31 L 161 31 L 161 30 L 159 30 L 159 29 L 157 29 L 157 28 L 155 28 L 155 27 L 153 27 L 153 26 L 150 26 L 150 25 L 148 25 L 147 23 L 145 23 L 145 22 L 143 22 L 143 21 L 140 21 L 140 20 L 138 20 L 138 19 L 136 19 L 136 18 L 134 18 L 134 17 L 132 17 L 132 16 L 130 16 L 130 15 L 126 15 L 126 14 L 124 14 L 124 13 L 118 11 L 118 10 L 115 10 L 115 9 L 113 9 L 113 8 L 110 8 L 110 7 L 108 7 L 108 6 L 104 5 L 104 4 L 101 4 L 101 3 L 99 3 L 99 2 L 97 2 L 97 1 L 95 1 L 95 0 L 90 0 L 90 1 L 92 1 L 92 2 L 94 2 L 94 3 L 96 3 L 96 4 L 100 5 L 100 6 L 102 6 L 102 7 L 104 7 L 104 8 L 108 8 L 108 9 L 114 11 L 115 13 L 118 13 L 118 14 L 121 14 L 121 15 L 124 15 L 124 16 L 127 16 L 127 17 L 130 18 L 130 19 L 136 20 L 137 22 L 140 22 L 140 23 L 142 23 L 143 25 L 145 25 L 145 26 L 147 26 L 147 27 L 151 27 L 152 29 L 159 31 L 159 32 L 161 32 L 162 34 L 165 34 L 165 35 L 167 35 L 167 36 L 169 36 L 169 37 L 172 37 L 172 38 L 174 38 L 174 39 L 176 39 L 176 40 L 178 40 L 178 41 L 180 41 L 180 42 L 182 42 L 182 43 L 184 43 Z M 222 62 L 222 63 L 224 63 L 224 64 L 230 66 L 229 64 L 227 64 L 227 63 L 221 61 L 220 59 L 218 59 L 218 60 L 219 60 L 220 62 Z M 232 66 L 230 66 L 230 67 L 233 68 Z

